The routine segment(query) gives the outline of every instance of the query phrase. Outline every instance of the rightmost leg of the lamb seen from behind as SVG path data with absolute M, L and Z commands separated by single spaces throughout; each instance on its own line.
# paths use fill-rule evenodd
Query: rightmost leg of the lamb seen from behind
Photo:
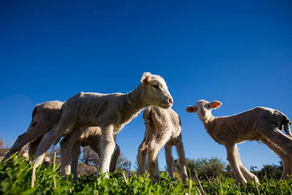
M 179 162 L 180 162 L 180 167 L 181 167 L 181 175 L 182 175 L 181 178 L 182 178 L 183 183 L 185 183 L 185 180 L 189 179 L 189 177 L 187 176 L 184 149 L 183 149 L 183 140 L 182 140 L 182 136 L 181 135 L 177 139 L 175 146 L 176 146 L 176 150 L 177 150 L 178 156 L 179 156 Z

